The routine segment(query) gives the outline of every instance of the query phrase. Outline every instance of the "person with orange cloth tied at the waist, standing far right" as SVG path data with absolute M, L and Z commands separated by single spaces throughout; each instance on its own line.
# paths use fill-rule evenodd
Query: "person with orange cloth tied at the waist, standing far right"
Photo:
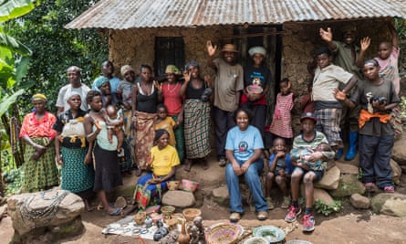
M 380 77 L 380 64 L 375 59 L 365 61 L 363 72 L 366 80 L 359 82 L 357 90 L 348 99 L 342 91 L 335 90 L 335 97 L 350 108 L 360 104 L 359 113 L 359 166 L 362 182 L 368 191 L 380 187 L 393 193 L 390 156 L 395 131 L 390 124 L 390 111 L 400 102 L 391 80 Z

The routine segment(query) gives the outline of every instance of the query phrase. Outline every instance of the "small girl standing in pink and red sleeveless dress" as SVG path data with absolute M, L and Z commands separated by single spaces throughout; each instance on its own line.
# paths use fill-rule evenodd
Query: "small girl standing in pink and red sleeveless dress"
M 293 138 L 291 111 L 297 95 L 291 90 L 291 82 L 287 78 L 279 82 L 279 88 L 280 92 L 276 95 L 276 106 L 269 132 L 273 136 L 284 138 L 287 148 L 290 148 Z

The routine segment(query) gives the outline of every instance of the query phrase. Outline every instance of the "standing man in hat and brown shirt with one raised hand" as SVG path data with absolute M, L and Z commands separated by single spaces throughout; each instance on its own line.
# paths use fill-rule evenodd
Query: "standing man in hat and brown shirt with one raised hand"
M 225 138 L 234 125 L 233 113 L 238 108 L 241 91 L 244 90 L 243 67 L 235 62 L 237 49 L 233 44 L 225 44 L 222 48 L 222 58 L 213 56 L 217 46 L 212 41 L 206 44 L 209 58 L 207 65 L 215 70 L 213 122 L 215 147 L 220 166 L 225 166 Z

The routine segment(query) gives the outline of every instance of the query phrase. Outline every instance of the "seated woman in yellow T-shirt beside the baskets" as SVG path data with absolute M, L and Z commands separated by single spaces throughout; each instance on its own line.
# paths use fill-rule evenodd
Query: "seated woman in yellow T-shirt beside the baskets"
M 151 148 L 150 164 L 147 164 L 152 172 L 141 176 L 135 186 L 134 200 L 141 209 L 161 202 L 161 193 L 167 190 L 166 182 L 173 180 L 176 165 L 180 164 L 176 149 L 168 143 L 169 138 L 166 130 L 155 131 L 155 146 Z

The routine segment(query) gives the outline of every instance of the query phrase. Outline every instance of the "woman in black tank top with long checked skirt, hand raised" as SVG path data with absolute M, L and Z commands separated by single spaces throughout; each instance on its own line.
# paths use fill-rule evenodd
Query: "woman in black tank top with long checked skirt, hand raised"
M 205 157 L 210 154 L 210 98 L 212 84 L 208 77 L 200 77 L 197 62 L 186 65 L 183 73 L 184 83 L 181 95 L 185 96 L 184 112 L 184 143 L 186 159 L 183 170 L 189 172 L 193 161 L 200 161 L 203 169 L 209 168 Z M 210 92 L 209 92 L 210 91 Z

